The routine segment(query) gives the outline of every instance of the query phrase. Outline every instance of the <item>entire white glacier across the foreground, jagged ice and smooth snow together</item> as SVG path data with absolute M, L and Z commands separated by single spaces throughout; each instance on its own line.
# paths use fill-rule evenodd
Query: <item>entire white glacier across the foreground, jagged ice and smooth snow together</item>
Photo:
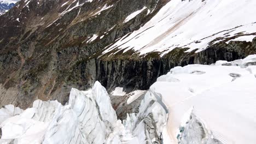
M 122 97 L 122 96 L 120 96 Z M 0 109 L 0 143 L 254 143 L 256 55 L 175 67 L 121 122 L 100 82 L 69 101 Z M 124 111 L 125 112 L 125 111 Z

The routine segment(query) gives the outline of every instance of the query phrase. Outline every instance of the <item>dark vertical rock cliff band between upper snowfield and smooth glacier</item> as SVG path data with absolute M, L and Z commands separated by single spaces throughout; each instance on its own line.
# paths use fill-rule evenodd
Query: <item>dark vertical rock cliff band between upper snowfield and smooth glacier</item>
M 93 58 L 74 66 L 69 82 L 82 81 L 90 85 L 98 80 L 108 90 L 125 87 L 127 89 L 149 89 L 156 79 L 171 68 L 188 64 L 212 64 L 219 60 L 234 61 L 256 53 L 256 39 L 251 42 L 235 41 L 218 43 L 208 49 L 194 53 L 187 49 L 174 49 L 163 57 L 149 53 L 141 58 L 129 58 L 128 53 L 112 57 Z

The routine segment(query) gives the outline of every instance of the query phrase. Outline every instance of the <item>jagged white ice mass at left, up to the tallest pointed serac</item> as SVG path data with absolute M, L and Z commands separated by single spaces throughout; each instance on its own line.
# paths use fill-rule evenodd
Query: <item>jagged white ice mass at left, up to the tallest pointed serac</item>
M 24 112 L 13 106 L 5 109 L 0 110 L 1 116 L 15 111 L 15 116 L 5 117 L 0 125 L 0 142 L 6 143 L 9 139 L 18 144 L 104 143 L 117 122 L 107 91 L 99 82 L 88 91 L 72 89 L 65 106 L 57 101 L 36 100 Z

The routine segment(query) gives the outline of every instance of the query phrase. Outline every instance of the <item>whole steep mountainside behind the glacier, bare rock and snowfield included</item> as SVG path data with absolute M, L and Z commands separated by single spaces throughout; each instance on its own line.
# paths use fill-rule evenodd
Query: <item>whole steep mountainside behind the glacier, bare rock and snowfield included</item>
M 255 4 L 22 0 L 0 16 L 0 106 L 65 104 L 96 80 L 148 89 L 177 65 L 244 58 L 256 53 Z

